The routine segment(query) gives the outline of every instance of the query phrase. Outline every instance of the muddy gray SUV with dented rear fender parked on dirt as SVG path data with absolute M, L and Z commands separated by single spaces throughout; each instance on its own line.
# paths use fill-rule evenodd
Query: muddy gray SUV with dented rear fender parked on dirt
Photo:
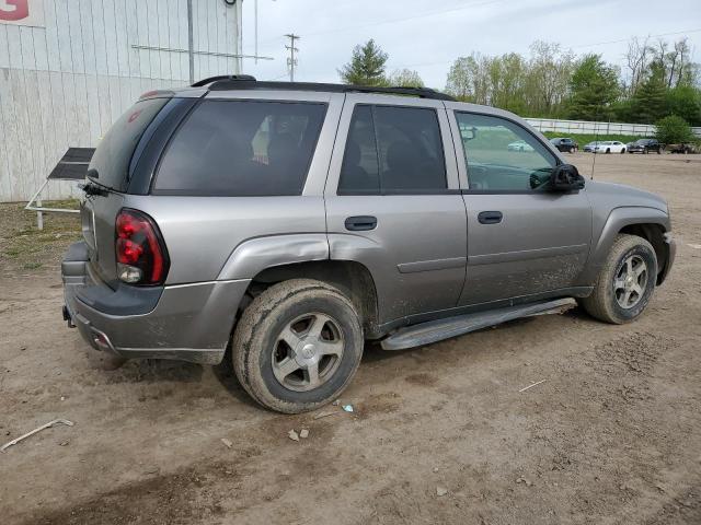
M 84 191 L 69 326 L 124 358 L 229 350 L 281 412 L 335 399 L 366 340 L 416 347 L 572 298 L 633 320 L 675 256 L 659 197 L 585 184 L 515 115 L 423 89 L 226 77 L 150 92 Z

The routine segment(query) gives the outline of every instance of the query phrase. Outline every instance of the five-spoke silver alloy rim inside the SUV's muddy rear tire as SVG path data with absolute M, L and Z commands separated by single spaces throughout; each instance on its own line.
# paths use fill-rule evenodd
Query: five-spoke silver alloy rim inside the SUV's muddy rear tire
M 290 390 L 313 390 L 333 377 L 344 349 L 343 330 L 336 319 L 317 312 L 300 315 L 277 336 L 273 375 Z

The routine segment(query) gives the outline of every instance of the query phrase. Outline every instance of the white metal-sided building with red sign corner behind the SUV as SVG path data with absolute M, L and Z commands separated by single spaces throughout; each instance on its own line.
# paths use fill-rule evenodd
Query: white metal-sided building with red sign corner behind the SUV
M 241 68 L 241 1 L 192 0 L 194 77 Z M 0 201 L 26 201 L 151 89 L 189 81 L 188 0 L 0 0 Z M 44 198 L 71 195 L 49 185 Z

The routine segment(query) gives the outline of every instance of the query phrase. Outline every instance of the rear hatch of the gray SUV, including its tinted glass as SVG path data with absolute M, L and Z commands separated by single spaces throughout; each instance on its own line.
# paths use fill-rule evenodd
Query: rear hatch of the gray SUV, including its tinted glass
M 129 185 L 133 158 L 146 128 L 168 101 L 147 98 L 131 106 L 102 138 L 88 166 L 82 232 L 92 269 L 107 284 L 117 279 L 115 219 Z

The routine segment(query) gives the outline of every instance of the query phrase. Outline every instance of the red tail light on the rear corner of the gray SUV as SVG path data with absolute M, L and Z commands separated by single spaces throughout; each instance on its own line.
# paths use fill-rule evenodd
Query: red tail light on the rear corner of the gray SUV
M 117 214 L 117 276 L 129 284 L 162 284 L 170 261 L 161 232 L 146 213 L 123 208 Z

